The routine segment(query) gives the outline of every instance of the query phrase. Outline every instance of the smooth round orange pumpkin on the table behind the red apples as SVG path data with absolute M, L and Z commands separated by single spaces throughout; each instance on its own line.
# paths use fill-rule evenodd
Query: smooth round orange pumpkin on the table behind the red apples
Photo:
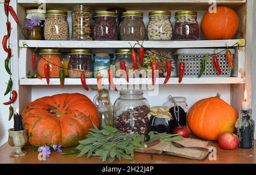
M 236 111 L 219 95 L 197 101 L 188 113 L 192 133 L 208 140 L 217 140 L 218 135 L 225 131 L 233 133 L 236 121 Z

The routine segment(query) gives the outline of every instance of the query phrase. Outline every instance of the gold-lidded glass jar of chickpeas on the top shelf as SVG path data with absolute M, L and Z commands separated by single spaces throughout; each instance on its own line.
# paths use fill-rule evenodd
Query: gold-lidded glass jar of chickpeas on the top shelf
M 68 40 L 69 27 L 67 22 L 68 12 L 62 10 L 47 10 L 44 23 L 44 39 Z

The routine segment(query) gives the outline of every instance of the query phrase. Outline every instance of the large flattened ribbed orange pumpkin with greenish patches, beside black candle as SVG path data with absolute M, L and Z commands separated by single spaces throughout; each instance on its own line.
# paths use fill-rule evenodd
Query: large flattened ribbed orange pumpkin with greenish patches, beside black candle
M 27 104 L 22 112 L 28 143 L 36 147 L 53 144 L 76 146 L 93 127 L 90 117 L 98 127 L 100 114 L 96 106 L 80 93 L 43 97 Z

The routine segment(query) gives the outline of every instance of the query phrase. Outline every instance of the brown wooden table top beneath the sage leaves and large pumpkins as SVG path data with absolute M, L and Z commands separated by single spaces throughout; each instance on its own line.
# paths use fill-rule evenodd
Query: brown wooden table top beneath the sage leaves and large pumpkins
M 256 141 L 255 141 L 256 144 Z M 210 142 L 217 148 L 217 160 L 210 161 L 208 158 L 204 161 L 184 159 L 169 155 L 150 155 L 145 153 L 135 153 L 133 160 L 122 161 L 115 160 L 114 163 L 127 163 L 127 164 L 256 164 L 256 149 L 241 149 L 236 150 L 221 150 L 216 142 Z M 71 148 L 65 148 L 64 150 L 70 150 Z M 46 161 L 38 160 L 38 152 L 32 150 L 30 147 L 26 147 L 25 150 L 28 152 L 23 157 L 9 157 L 9 153 L 13 151 L 13 148 L 8 143 L 3 144 L 0 147 L 0 163 L 8 164 L 29 164 L 29 163 L 56 163 L 56 164 L 92 164 L 102 163 L 99 157 L 90 157 L 89 159 L 84 157 L 76 158 L 75 155 L 60 155 L 55 151 L 52 151 L 51 156 Z M 109 163 L 108 161 L 106 163 Z

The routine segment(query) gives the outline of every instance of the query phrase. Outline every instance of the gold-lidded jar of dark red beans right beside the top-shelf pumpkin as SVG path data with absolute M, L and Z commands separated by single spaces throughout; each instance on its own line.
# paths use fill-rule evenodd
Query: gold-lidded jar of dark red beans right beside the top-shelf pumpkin
M 175 40 L 197 40 L 199 38 L 199 24 L 196 20 L 196 11 L 177 11 L 175 19 Z

